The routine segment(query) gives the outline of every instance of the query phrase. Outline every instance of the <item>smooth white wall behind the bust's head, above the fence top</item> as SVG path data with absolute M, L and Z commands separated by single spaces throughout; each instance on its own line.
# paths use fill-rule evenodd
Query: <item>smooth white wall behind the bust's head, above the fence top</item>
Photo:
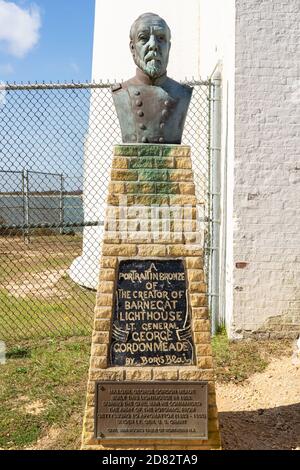
M 172 32 L 168 75 L 199 76 L 199 0 L 96 0 L 93 78 L 126 80 L 135 75 L 129 30 L 142 13 L 160 15 Z

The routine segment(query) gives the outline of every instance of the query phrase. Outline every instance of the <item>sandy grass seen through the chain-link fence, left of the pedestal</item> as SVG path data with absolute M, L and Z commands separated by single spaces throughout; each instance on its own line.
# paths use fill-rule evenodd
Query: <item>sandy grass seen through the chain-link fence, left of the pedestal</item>
M 48 273 L 67 270 L 81 253 L 81 236 L 0 238 L 0 338 L 23 339 L 91 334 L 95 293 L 67 274 L 54 286 Z

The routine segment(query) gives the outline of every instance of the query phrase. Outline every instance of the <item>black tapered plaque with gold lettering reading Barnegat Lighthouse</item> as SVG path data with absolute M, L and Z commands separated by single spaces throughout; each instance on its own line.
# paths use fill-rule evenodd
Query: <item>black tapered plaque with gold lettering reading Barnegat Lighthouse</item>
M 109 361 L 126 367 L 195 363 L 182 259 L 119 262 Z

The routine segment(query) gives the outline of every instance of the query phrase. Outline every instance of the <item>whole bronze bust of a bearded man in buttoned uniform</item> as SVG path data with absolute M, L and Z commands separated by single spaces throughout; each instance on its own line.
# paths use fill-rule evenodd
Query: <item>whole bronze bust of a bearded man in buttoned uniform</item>
M 154 13 L 130 30 L 136 75 L 112 87 L 124 143 L 181 144 L 193 88 L 167 77 L 171 32 Z

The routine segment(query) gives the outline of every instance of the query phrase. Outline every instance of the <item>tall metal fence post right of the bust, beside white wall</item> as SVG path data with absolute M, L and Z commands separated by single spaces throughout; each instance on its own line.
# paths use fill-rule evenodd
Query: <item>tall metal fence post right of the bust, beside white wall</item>
M 215 335 L 220 325 L 220 224 L 221 224 L 221 73 L 212 77 L 212 123 L 211 123 L 211 263 L 210 295 L 211 325 Z

